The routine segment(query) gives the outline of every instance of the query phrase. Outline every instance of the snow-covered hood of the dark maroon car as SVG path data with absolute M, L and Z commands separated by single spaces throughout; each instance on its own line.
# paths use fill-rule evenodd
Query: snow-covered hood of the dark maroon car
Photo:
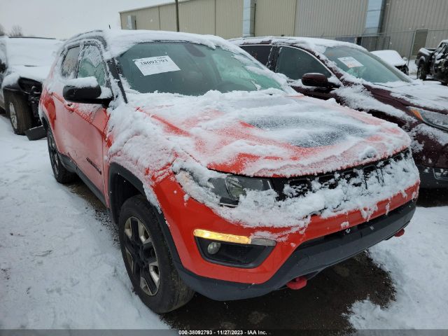
M 405 106 L 448 113 L 448 90 L 438 82 L 423 83 L 416 80 L 414 83 L 396 82 L 365 85 L 365 87 L 381 97 L 398 99 Z

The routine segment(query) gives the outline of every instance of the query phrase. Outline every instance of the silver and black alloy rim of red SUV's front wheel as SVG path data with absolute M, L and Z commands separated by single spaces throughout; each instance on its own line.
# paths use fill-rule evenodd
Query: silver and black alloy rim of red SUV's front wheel
M 160 269 L 153 240 L 138 218 L 127 218 L 125 223 L 126 260 L 134 280 L 147 295 L 155 295 L 159 289 Z

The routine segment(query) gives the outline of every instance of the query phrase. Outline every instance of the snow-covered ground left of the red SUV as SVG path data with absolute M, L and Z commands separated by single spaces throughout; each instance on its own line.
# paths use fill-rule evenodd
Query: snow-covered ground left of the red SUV
M 168 328 L 132 293 L 113 228 L 55 181 L 46 139 L 0 116 L 0 328 Z

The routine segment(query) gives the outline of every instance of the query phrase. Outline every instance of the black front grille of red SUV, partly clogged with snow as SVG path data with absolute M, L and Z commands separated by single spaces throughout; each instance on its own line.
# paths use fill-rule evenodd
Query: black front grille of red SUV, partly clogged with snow
M 341 183 L 368 190 L 370 182 L 384 186 L 384 174 L 391 174 L 391 169 L 388 169 L 391 163 L 409 158 L 412 158 L 412 154 L 406 150 L 370 165 L 344 169 L 331 174 L 272 179 L 272 187 L 276 190 L 280 200 L 305 196 L 321 188 L 335 189 Z

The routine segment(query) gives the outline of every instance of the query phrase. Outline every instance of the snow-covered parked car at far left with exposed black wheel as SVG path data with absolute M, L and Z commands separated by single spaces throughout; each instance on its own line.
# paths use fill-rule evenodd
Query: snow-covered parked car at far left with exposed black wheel
M 38 101 L 62 41 L 0 36 L 0 109 L 16 134 L 39 125 Z

